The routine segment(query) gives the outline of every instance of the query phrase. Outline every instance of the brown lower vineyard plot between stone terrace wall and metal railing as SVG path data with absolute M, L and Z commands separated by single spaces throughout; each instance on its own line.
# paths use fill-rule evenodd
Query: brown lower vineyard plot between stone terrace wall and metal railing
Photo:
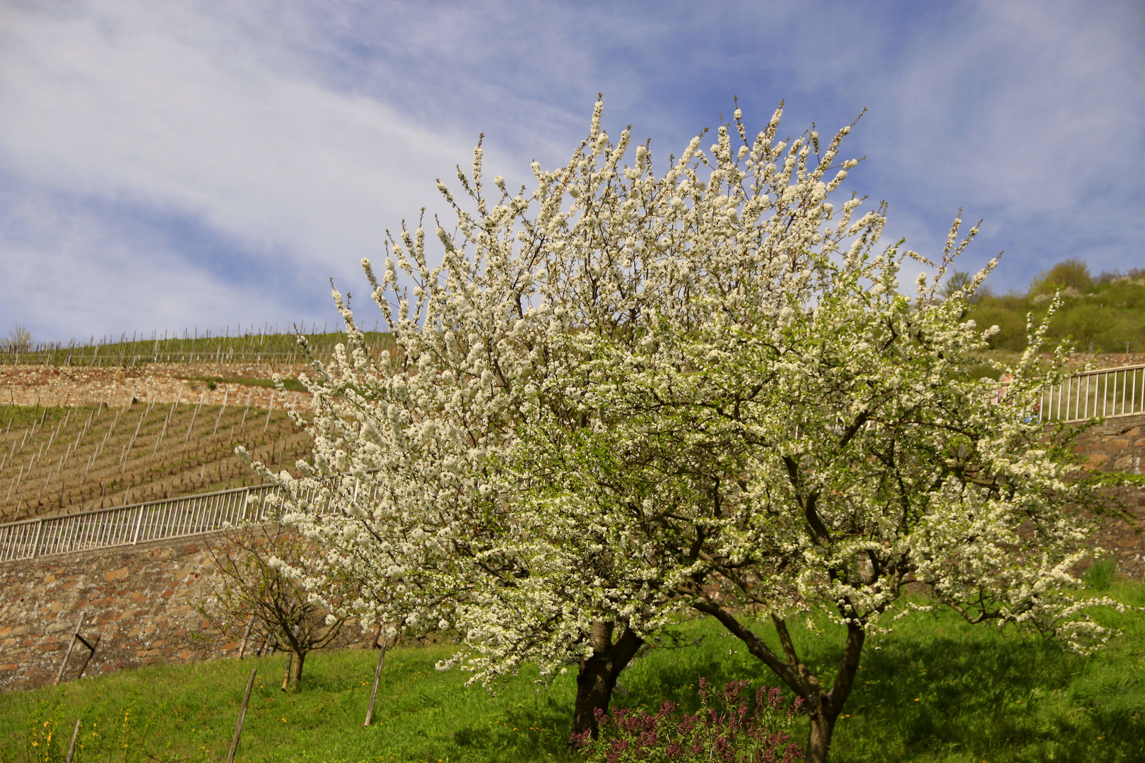
M 238 445 L 277 468 L 309 453 L 309 437 L 286 412 L 266 407 L 266 390 L 236 398 L 3 407 L 0 522 L 258 484 L 235 455 Z

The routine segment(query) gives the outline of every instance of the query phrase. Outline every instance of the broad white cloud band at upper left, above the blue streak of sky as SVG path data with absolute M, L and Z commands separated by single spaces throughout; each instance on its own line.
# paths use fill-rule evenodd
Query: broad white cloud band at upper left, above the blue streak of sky
M 382 103 L 236 55 L 203 16 L 9 7 L 0 26 L 9 172 L 190 215 L 251 252 L 356 267 L 468 154 Z

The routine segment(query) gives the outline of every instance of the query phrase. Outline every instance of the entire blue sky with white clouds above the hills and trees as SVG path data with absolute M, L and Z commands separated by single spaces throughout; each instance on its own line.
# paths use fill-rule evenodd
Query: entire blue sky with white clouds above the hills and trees
M 853 188 L 927 255 L 985 218 L 998 291 L 1145 267 L 1143 41 L 1111 0 L 0 0 L 0 334 L 331 320 L 480 133 L 524 182 L 597 93 L 661 158 L 734 96 L 789 134 L 866 108 Z

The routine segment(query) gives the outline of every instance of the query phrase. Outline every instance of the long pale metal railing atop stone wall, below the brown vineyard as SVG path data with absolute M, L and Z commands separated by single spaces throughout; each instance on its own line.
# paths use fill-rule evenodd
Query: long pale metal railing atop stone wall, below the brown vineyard
M 273 485 L 237 487 L 0 525 L 0 562 L 202 535 L 259 522 Z

